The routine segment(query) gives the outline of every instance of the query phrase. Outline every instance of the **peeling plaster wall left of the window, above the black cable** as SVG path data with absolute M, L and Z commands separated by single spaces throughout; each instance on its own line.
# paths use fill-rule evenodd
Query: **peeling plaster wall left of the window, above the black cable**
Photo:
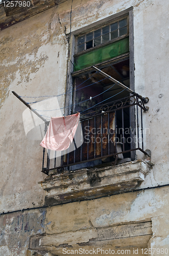
M 1 31 L 0 42 L 0 200 L 1 211 L 8 211 L 42 205 L 43 190 L 37 182 L 45 177 L 40 172 L 40 141 L 26 138 L 22 121 L 26 107 L 11 92 L 22 96 L 64 93 L 68 42 L 55 8 Z M 59 105 L 63 107 L 64 96 Z

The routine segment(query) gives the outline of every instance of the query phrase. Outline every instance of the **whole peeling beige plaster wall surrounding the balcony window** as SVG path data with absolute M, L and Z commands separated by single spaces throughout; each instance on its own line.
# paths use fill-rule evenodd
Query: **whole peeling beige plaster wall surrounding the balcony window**
M 22 122 L 22 112 L 26 108 L 11 92 L 23 96 L 65 92 L 66 34 L 70 32 L 71 3 L 70 0 L 63 2 L 0 32 L 1 212 L 43 205 L 44 191 L 38 185 L 38 181 L 45 177 L 40 172 L 42 148 L 39 141 L 26 139 Z M 150 129 L 145 148 L 151 150 L 155 163 L 141 188 L 168 184 L 169 181 L 168 5 L 167 0 L 73 0 L 72 5 L 72 31 L 133 6 L 135 91 L 150 98 L 150 110 L 144 113 L 145 128 Z M 61 107 L 64 100 L 63 96 L 59 99 Z M 44 219 L 42 212 L 31 212 L 0 216 L 4 230 L 0 254 L 31 255 L 26 250 L 32 234 L 60 233 L 146 219 L 152 219 L 153 224 L 149 246 L 168 248 L 169 244 L 167 186 L 53 206 L 47 209 Z M 24 224 L 19 224 L 20 220 L 16 223 L 19 218 L 23 218 L 21 222 Z M 26 218 L 30 220 L 29 231 L 24 229 Z M 45 225 L 51 222 L 45 229 L 38 223 L 42 219 Z M 21 242 L 17 244 L 18 241 Z

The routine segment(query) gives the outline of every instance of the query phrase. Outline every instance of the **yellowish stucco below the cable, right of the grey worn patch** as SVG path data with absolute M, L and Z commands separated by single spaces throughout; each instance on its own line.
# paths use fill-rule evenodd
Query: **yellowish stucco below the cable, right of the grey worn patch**
M 53 206 L 46 212 L 45 222 L 50 223 L 46 233 L 52 236 L 54 233 L 89 228 L 100 229 L 151 220 L 153 235 L 149 241 L 149 248 L 169 249 L 168 193 L 168 187 L 164 186 Z M 138 241 L 139 239 L 140 237 Z M 110 244 L 114 246 L 112 241 Z M 138 244 L 142 245 L 141 240 Z M 153 255 L 157 254 L 155 252 Z

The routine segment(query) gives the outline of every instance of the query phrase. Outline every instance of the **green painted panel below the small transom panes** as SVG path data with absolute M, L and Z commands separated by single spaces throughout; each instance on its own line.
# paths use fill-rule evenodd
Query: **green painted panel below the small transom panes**
M 112 44 L 100 47 L 74 58 L 74 71 L 87 68 L 104 60 L 112 59 L 129 52 L 129 38 L 126 37 Z

